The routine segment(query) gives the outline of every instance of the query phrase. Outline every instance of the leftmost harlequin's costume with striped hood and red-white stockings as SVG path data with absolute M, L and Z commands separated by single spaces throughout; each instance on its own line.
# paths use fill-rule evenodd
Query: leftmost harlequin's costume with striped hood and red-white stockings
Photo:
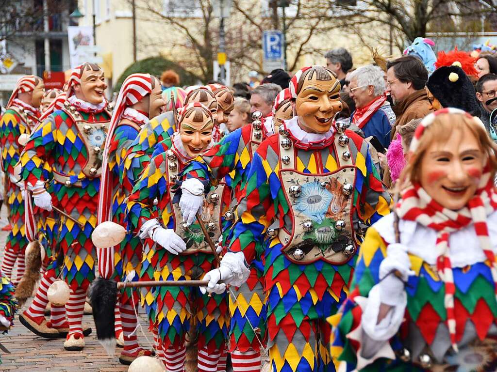
M 40 84 L 43 86 L 43 80 L 37 76 L 21 77 L 12 91 L 0 121 L 1 167 L 5 172 L 5 198 L 9 211 L 8 220 L 12 226 L 7 236 L 1 269 L 3 274 L 10 278 L 17 261 L 17 278 L 14 282 L 19 281 L 24 274 L 24 250 L 28 244 L 24 234 L 24 187 L 14 172 L 23 147 L 18 140 L 21 135 L 31 133 L 36 119 L 40 117 L 38 108 L 17 97 L 19 93 L 33 92 Z

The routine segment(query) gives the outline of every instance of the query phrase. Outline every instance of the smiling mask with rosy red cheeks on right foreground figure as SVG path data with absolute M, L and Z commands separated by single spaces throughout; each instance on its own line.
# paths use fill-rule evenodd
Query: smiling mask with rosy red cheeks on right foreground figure
M 468 129 L 451 132 L 445 142 L 434 140 L 421 159 L 420 184 L 436 202 L 459 210 L 475 195 L 486 156 Z

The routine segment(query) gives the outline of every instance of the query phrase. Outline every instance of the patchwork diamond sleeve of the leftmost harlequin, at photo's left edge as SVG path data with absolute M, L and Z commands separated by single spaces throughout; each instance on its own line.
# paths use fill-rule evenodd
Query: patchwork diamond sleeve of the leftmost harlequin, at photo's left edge
M 19 135 L 25 132 L 21 118 L 13 110 L 7 110 L 0 121 L 1 162 L 4 172 L 14 174 L 14 167 L 19 161 Z

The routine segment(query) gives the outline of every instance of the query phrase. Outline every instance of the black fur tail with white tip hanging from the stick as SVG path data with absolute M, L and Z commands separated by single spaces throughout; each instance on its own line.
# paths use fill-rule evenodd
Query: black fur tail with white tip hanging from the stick
M 114 307 L 117 301 L 117 283 L 112 279 L 96 278 L 91 283 L 89 299 L 98 342 L 109 356 L 113 356 L 116 348 Z

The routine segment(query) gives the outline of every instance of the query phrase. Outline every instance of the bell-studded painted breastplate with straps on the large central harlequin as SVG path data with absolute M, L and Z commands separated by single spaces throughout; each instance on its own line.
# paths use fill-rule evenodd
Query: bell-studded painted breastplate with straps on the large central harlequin
M 293 142 L 284 128 L 278 136 L 279 177 L 290 207 L 292 228 L 291 231 L 268 229 L 267 234 L 278 235 L 282 251 L 294 262 L 348 261 L 356 247 L 351 213 L 356 167 L 351 160 L 348 137 L 335 135 L 335 154 L 341 153 L 342 158 L 336 159 L 335 172 L 308 174 L 295 170 Z

